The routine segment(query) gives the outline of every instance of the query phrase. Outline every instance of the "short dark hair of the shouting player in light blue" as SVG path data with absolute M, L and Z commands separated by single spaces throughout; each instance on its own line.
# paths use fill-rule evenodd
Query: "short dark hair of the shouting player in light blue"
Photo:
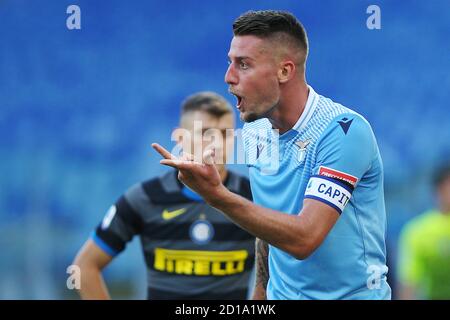
M 308 55 L 308 36 L 306 30 L 297 18 L 287 11 L 262 10 L 247 11 L 233 23 L 235 36 L 254 35 L 260 38 L 270 38 L 277 34 L 287 35 L 295 46 Z

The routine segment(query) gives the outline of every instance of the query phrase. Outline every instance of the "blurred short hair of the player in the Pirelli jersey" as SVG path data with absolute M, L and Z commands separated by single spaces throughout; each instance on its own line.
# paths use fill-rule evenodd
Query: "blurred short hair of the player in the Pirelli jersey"
M 203 111 L 220 118 L 225 114 L 232 114 L 233 108 L 221 95 L 202 91 L 187 97 L 181 105 L 181 115 L 192 111 Z

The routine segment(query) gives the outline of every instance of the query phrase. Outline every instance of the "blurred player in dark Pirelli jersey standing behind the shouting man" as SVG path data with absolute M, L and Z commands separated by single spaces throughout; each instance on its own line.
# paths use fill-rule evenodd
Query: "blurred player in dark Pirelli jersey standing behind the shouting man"
M 177 137 L 178 145 L 202 154 L 209 129 L 223 139 L 217 169 L 224 185 L 251 200 L 248 179 L 225 167 L 233 145 L 224 139 L 227 129 L 234 129 L 231 105 L 212 92 L 188 97 L 178 128 L 188 134 Z M 255 238 L 184 186 L 177 174 L 171 170 L 134 185 L 109 209 L 74 261 L 81 270 L 81 298 L 110 298 L 102 270 L 134 236 L 140 237 L 147 265 L 148 299 L 247 298 Z

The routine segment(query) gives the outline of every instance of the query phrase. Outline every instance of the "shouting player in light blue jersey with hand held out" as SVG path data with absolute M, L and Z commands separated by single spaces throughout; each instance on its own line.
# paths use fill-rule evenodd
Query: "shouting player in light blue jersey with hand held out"
M 233 32 L 225 81 L 246 122 L 254 203 L 223 186 L 212 149 L 198 161 L 153 144 L 161 163 L 261 239 L 254 298 L 390 299 L 383 166 L 369 123 L 306 83 L 308 40 L 293 15 L 247 12 Z

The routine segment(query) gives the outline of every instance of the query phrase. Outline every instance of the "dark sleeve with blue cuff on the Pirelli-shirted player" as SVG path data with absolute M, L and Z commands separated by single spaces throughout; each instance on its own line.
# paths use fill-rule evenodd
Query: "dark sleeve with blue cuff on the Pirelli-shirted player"
M 142 219 L 132 203 L 137 188 L 130 188 L 109 208 L 92 234 L 92 240 L 110 256 L 122 252 L 133 236 L 141 231 Z

